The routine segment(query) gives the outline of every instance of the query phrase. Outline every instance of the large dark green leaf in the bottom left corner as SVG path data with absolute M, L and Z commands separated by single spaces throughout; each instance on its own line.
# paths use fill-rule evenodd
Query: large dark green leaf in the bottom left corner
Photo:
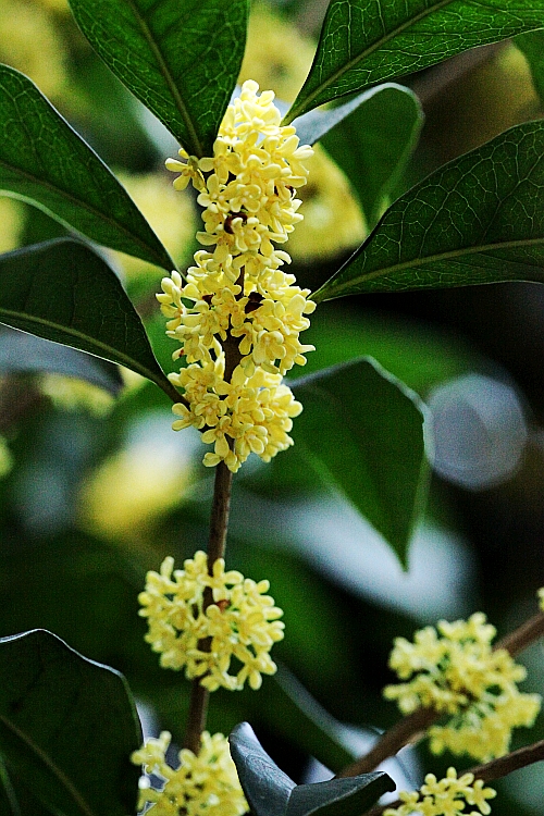
M 126 681 L 50 632 L 0 640 L 0 752 L 12 774 L 62 816 L 136 808 L 141 743 Z

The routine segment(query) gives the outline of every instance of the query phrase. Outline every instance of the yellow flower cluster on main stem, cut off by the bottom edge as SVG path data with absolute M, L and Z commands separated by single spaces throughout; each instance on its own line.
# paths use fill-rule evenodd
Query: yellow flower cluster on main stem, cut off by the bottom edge
M 158 740 L 147 740 L 135 751 L 132 762 L 143 765 L 144 771 L 159 776 L 162 789 L 151 787 L 149 776 L 139 784 L 138 809 L 153 816 L 242 816 L 249 808 L 242 791 L 236 767 L 231 758 L 228 742 L 222 733 L 211 737 L 205 731 L 197 755 L 180 751 L 180 767 L 168 765 L 165 754 L 171 735 L 163 731 Z

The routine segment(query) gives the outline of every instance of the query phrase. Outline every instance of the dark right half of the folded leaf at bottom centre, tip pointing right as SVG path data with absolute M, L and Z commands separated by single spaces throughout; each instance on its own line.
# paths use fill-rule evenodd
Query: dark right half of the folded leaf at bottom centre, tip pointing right
M 290 794 L 286 816 L 360 816 L 375 805 L 383 793 L 394 790 L 395 782 L 382 771 L 316 784 L 297 784 Z

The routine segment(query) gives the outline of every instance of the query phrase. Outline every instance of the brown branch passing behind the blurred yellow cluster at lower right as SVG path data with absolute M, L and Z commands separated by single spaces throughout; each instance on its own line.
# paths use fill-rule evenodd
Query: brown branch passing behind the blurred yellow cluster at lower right
M 514 656 L 543 635 L 544 611 L 541 611 L 498 641 L 493 648 L 506 648 Z M 338 776 L 353 777 L 358 774 L 369 774 L 409 742 L 417 741 L 421 732 L 426 731 L 440 717 L 441 714 L 432 708 L 418 708 L 413 714 L 404 717 L 392 729 L 385 731 L 368 754 L 348 765 Z

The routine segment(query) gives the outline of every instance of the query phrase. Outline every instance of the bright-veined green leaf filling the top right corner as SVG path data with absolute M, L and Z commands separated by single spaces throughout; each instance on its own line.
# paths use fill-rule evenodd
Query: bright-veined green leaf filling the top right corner
M 284 122 L 542 23 L 542 4 L 531 0 L 332 0 L 310 73 Z

